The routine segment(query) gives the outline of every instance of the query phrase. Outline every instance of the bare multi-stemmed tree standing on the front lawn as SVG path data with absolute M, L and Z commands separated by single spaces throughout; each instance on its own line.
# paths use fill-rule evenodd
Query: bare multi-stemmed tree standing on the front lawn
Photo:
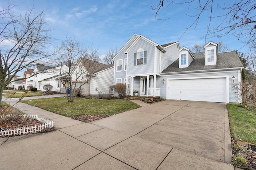
M 106 66 L 99 63 L 98 49 L 82 45 L 75 37 L 66 37 L 60 47 L 58 66 L 65 68 L 61 70 L 58 78 L 66 89 L 68 102 L 74 102 L 77 94 L 88 86 L 90 80 L 97 79 L 95 73 Z M 69 92 L 69 94 L 68 94 Z

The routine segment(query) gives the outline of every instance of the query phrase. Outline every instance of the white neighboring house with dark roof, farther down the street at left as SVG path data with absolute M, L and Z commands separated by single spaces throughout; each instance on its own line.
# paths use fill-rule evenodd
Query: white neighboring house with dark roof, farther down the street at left
M 26 79 L 25 89 L 28 86 L 33 86 L 37 88 L 37 90 L 46 91 L 43 89 L 43 86 L 46 84 L 50 84 L 53 86 L 52 91 L 60 90 L 61 83 L 60 83 L 60 80 L 57 78 L 57 76 L 61 74 L 61 70 L 65 70 L 65 69 L 66 69 L 66 66 L 51 67 L 51 66 L 37 64 L 32 73 L 26 74 L 26 76 L 27 75 L 31 76 L 33 74 L 34 76 Z

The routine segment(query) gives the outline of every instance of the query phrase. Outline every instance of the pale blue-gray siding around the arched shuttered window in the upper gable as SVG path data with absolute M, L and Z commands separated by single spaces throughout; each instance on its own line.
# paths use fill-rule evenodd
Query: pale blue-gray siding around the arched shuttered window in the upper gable
M 139 48 L 143 48 L 144 51 L 147 51 L 147 64 L 136 65 L 134 66 L 134 53 L 137 53 Z M 145 41 L 144 39 L 140 39 L 133 47 L 130 49 L 128 53 L 128 61 L 127 61 L 127 75 L 135 75 L 135 74 L 149 74 L 154 73 L 154 54 L 155 54 L 155 46 L 151 43 Z

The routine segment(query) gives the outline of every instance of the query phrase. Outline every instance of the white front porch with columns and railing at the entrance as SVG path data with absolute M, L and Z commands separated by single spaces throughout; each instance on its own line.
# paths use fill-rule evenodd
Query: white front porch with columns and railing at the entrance
M 124 82 L 130 96 L 135 96 L 134 92 L 138 91 L 138 96 L 142 98 L 160 97 L 161 89 L 156 87 L 156 74 L 127 76 Z

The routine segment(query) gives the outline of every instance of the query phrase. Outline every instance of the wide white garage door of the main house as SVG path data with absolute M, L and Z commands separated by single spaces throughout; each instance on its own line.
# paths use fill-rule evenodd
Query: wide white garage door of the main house
M 226 102 L 226 78 L 169 80 L 168 99 Z

